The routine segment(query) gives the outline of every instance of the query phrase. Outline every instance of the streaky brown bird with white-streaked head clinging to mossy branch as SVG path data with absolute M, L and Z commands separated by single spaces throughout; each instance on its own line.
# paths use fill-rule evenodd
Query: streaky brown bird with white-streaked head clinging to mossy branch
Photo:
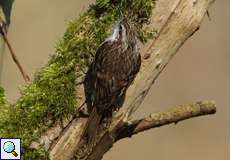
M 101 121 L 122 106 L 126 90 L 140 67 L 141 55 L 135 26 L 128 17 L 122 16 L 97 49 L 86 76 L 91 83 L 91 92 L 87 97 L 92 106 L 83 132 L 88 142 L 93 140 Z

